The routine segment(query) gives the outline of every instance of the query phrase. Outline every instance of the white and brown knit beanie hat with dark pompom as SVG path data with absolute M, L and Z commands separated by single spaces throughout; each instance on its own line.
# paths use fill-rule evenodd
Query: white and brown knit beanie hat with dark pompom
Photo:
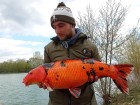
M 50 20 L 51 20 L 51 26 L 55 21 L 63 21 L 63 22 L 73 24 L 75 26 L 75 19 L 72 15 L 71 9 L 69 7 L 66 7 L 66 5 L 63 2 L 60 2 L 58 4 Z

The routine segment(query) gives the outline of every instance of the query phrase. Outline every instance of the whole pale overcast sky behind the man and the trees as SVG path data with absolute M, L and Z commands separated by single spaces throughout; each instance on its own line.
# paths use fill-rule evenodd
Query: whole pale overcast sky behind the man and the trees
M 90 4 L 95 13 L 106 0 L 0 0 L 0 62 L 8 59 L 29 59 L 35 51 L 43 55 L 44 46 L 55 36 L 50 16 L 59 2 L 65 2 L 77 18 Z M 116 0 L 119 1 L 119 0 Z M 140 18 L 140 0 L 122 0 L 130 6 L 125 29 Z

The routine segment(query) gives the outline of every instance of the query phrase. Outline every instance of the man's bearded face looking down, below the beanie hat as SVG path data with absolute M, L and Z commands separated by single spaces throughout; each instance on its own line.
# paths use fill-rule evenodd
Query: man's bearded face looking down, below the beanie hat
M 67 40 L 75 34 L 74 26 L 69 23 L 57 21 L 52 26 L 60 40 Z

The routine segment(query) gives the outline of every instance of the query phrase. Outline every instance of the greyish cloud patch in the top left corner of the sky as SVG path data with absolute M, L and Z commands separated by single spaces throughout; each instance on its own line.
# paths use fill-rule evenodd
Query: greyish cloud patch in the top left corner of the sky
M 33 7 L 31 2 L 23 0 L 1 0 L 1 16 L 3 19 L 13 21 L 21 26 L 28 26 L 32 23 L 43 23 L 42 19 Z

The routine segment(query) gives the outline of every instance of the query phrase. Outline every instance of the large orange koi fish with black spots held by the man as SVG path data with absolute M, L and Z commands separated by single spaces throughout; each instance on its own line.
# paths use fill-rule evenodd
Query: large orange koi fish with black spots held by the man
M 45 63 L 31 70 L 23 79 L 28 86 L 44 84 L 49 90 L 69 89 L 70 93 L 78 98 L 80 86 L 94 82 L 98 78 L 110 77 L 124 94 L 128 94 L 127 76 L 133 65 L 116 64 L 108 65 L 94 59 L 62 60 Z

